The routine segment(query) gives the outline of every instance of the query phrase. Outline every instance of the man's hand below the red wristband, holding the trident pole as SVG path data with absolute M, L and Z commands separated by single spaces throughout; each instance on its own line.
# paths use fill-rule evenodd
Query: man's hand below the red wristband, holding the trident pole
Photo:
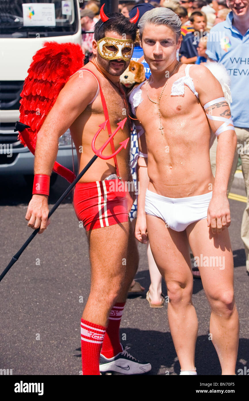
M 28 227 L 35 230 L 41 226 L 38 234 L 42 234 L 50 224 L 48 213 L 48 196 L 34 194 L 28 204 L 25 216 L 25 219 L 28 221 Z

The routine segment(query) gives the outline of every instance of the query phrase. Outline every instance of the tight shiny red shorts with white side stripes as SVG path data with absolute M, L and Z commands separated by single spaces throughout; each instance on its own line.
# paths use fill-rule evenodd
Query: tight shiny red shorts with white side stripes
M 128 221 L 126 188 L 118 179 L 76 184 L 74 210 L 86 231 Z

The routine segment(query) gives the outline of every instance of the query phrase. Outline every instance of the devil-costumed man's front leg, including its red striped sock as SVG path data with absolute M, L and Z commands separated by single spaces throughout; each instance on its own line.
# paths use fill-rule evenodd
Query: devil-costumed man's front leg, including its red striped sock
M 127 253 L 128 233 L 128 222 L 87 232 L 91 289 L 81 319 L 83 375 L 100 375 L 100 352 L 108 330 L 109 314 L 125 277 L 122 258 Z M 118 330 L 115 338 L 120 352 Z

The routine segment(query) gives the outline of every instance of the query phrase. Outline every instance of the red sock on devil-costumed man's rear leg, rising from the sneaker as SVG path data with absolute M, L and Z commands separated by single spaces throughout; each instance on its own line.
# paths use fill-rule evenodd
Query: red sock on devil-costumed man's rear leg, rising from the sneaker
M 125 302 L 118 302 L 111 310 L 101 350 L 102 355 L 106 356 L 106 358 L 112 358 L 123 351 L 120 344 L 120 322 L 124 306 Z

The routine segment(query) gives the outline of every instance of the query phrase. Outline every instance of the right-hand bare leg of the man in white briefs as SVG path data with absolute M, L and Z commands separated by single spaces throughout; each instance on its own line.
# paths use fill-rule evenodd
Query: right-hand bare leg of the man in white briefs
M 235 375 L 239 344 L 239 317 L 233 291 L 233 253 L 228 229 L 213 235 L 207 220 L 190 224 L 187 229 L 194 257 L 219 257 L 216 267 L 199 267 L 201 280 L 211 306 L 210 333 L 221 364 L 222 375 Z M 198 259 L 196 259 L 198 260 Z M 212 264 L 214 264 L 212 262 Z M 217 266 L 217 264 L 219 264 Z

